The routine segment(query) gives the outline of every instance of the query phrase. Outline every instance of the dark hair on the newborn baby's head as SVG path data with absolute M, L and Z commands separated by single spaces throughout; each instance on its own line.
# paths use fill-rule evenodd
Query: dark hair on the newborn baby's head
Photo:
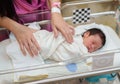
M 105 45 L 106 42 L 106 36 L 105 34 L 102 32 L 102 30 L 98 29 L 98 28 L 92 28 L 92 29 L 88 29 L 86 32 L 90 32 L 90 35 L 95 35 L 98 34 L 102 40 L 102 45 Z

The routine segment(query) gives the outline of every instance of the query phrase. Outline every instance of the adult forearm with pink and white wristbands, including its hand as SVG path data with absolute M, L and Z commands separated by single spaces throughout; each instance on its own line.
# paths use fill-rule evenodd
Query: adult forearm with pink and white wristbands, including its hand
M 65 22 L 61 13 L 62 0 L 49 0 L 51 7 L 51 24 L 54 32 L 54 36 L 57 37 L 58 31 L 62 33 L 66 41 L 69 43 L 73 42 L 74 28 Z

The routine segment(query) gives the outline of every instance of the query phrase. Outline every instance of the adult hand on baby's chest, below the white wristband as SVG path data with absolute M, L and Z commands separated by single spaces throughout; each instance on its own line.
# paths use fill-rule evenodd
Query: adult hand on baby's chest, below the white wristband
M 52 13 L 51 24 L 55 37 L 58 36 L 58 31 L 62 33 L 68 43 L 73 42 L 74 28 L 67 24 L 60 13 Z

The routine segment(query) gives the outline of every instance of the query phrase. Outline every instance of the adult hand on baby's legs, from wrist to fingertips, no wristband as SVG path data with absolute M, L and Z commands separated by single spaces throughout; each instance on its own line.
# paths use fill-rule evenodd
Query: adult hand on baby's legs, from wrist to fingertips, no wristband
M 19 28 L 16 28 L 16 32 L 14 33 L 22 53 L 26 55 L 26 50 L 31 56 L 38 55 L 38 52 L 40 51 L 40 47 L 38 42 L 33 36 L 33 33 L 37 30 L 28 28 L 24 25 L 20 25 Z

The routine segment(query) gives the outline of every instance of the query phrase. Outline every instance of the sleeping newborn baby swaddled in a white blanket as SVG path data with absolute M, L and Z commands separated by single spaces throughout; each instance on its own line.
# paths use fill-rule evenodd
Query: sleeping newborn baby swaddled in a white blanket
M 33 33 L 41 47 L 38 57 L 43 60 L 65 61 L 88 52 L 94 52 L 105 44 L 106 38 L 100 29 L 92 28 L 87 31 L 81 29 L 82 33 L 76 33 L 76 31 L 77 29 L 75 30 L 74 42 L 72 44 L 67 43 L 61 34 L 55 38 L 53 32 L 46 30 L 39 30 Z M 34 49 L 34 47 L 32 48 Z M 11 42 L 6 50 L 12 60 L 22 60 L 25 57 L 17 41 Z M 27 56 L 30 55 L 27 54 Z

